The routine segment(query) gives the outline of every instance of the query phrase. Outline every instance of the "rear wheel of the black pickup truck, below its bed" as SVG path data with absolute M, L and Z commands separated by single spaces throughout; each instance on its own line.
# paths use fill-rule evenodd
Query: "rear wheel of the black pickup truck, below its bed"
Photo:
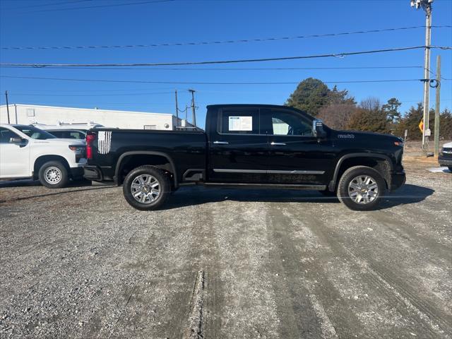
M 171 182 L 162 169 L 145 165 L 131 170 L 122 186 L 124 198 L 137 210 L 156 210 L 171 194 Z

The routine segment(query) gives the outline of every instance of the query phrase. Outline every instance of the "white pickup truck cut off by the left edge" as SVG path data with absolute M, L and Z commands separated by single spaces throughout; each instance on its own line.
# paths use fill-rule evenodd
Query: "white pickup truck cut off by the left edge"
M 83 175 L 85 141 L 59 139 L 28 125 L 0 124 L 0 179 L 39 179 L 50 189 Z

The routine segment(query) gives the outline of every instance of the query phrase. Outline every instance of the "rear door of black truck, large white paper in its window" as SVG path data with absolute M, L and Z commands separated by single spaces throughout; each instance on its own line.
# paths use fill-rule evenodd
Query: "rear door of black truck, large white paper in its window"
M 219 109 L 210 115 L 210 182 L 266 182 L 267 136 L 261 133 L 259 109 L 252 107 Z

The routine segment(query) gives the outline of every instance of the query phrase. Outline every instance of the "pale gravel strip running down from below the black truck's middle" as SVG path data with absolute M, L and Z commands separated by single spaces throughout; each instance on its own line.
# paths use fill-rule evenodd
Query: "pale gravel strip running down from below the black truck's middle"
M 215 203 L 213 229 L 222 285 L 217 317 L 222 321 L 212 338 L 281 338 L 274 275 L 266 265 L 273 260 L 274 246 L 266 234 L 267 213 L 262 203 Z

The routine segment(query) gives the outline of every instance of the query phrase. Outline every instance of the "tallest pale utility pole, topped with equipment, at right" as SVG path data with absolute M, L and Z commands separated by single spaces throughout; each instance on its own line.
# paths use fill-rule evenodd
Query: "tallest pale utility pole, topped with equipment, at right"
M 430 46 L 432 43 L 432 2 L 433 0 L 411 0 L 411 6 L 422 7 L 425 11 L 425 52 L 424 52 L 424 114 L 422 119 L 422 150 L 427 154 L 429 148 L 429 85 L 430 85 Z

